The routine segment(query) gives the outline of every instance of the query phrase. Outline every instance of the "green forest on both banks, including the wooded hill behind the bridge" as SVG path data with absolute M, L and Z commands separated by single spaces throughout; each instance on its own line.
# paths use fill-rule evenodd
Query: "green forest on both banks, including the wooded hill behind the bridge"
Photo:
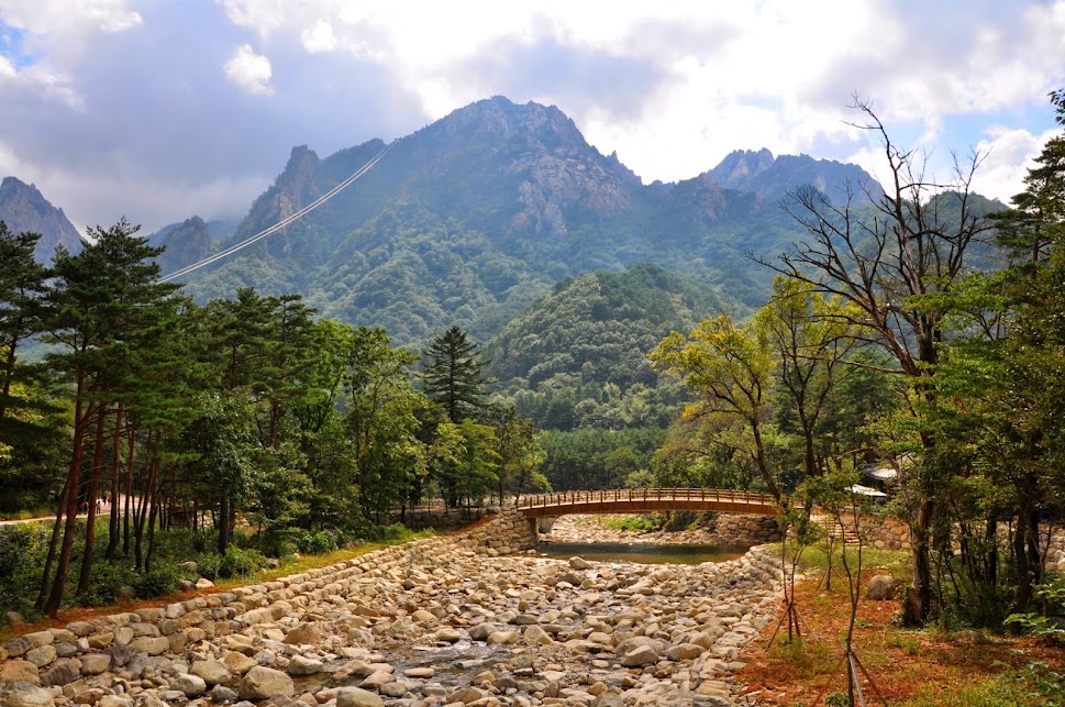
M 558 281 L 484 343 L 469 311 L 412 351 L 298 295 L 197 303 L 125 221 L 51 266 L 36 234 L 0 229 L 0 511 L 56 519 L 4 531 L 0 601 L 148 596 L 190 556 L 225 576 L 397 532 L 433 499 L 551 488 L 762 490 L 801 535 L 816 505 L 866 504 L 873 466 L 897 482 L 868 511 L 911 529 L 908 622 L 1053 630 L 1065 136 L 989 211 L 978 155 L 933 188 L 857 108 L 892 181 L 872 205 L 792 189 L 796 245 L 750 263 L 775 279 L 747 312 L 636 264 Z

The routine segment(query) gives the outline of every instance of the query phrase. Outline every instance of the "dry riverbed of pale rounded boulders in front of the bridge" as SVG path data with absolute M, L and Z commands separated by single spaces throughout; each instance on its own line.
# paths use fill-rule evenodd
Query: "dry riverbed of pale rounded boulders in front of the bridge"
M 436 538 L 231 604 L 31 633 L 0 649 L 0 705 L 753 704 L 730 675 L 779 607 L 770 553 L 701 565 L 492 554 Z M 197 611 L 218 618 L 182 620 Z

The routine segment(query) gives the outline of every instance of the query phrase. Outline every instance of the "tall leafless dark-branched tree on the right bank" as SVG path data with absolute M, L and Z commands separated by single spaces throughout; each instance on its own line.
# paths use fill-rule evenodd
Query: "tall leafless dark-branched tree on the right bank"
M 869 101 L 855 97 L 862 114 L 856 128 L 880 141 L 889 174 L 885 192 L 848 185 L 840 201 L 813 188 L 789 194 L 784 208 L 812 236 L 797 243 L 773 269 L 850 305 L 834 314 L 854 335 L 890 354 L 887 371 L 903 377 L 911 410 L 934 395 L 931 376 L 945 335 L 944 296 L 970 270 L 969 246 L 989 230 L 975 208 L 973 176 L 983 156 L 954 155 L 951 179 L 925 176 L 927 155 L 906 152 L 891 142 Z M 913 586 L 908 599 L 912 620 L 928 618 L 932 596 L 930 530 L 936 511 L 931 452 L 934 434 L 922 429 L 925 463 L 908 472 L 911 497 Z

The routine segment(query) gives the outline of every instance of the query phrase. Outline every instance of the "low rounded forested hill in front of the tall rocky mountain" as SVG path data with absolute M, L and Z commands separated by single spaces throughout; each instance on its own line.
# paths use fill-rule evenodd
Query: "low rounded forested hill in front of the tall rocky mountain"
M 712 291 L 657 265 L 586 273 L 485 344 L 487 373 L 543 429 L 665 427 L 686 396 L 659 383 L 646 354 L 721 308 Z

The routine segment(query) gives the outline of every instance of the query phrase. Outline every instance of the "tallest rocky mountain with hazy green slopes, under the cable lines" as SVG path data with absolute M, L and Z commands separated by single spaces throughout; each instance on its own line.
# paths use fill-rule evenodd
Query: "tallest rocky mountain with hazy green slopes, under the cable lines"
M 772 257 L 799 236 L 767 197 L 769 185 L 816 178 L 832 190 L 842 178 L 802 156 L 755 161 L 764 192 L 728 186 L 740 178 L 739 159 L 718 176 L 644 185 L 557 108 L 496 97 L 390 146 L 370 141 L 325 158 L 293 148 L 220 247 L 311 205 L 386 147 L 370 172 L 317 210 L 195 273 L 190 291 L 199 299 L 232 297 L 242 286 L 297 292 L 324 316 L 384 325 L 400 343 L 453 324 L 486 340 L 557 280 L 641 262 L 746 308 L 761 303 L 770 279 L 747 253 Z

